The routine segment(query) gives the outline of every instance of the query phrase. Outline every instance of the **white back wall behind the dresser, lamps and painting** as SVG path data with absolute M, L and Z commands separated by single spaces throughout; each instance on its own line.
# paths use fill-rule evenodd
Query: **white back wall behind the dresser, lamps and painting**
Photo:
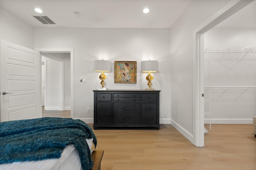
M 170 29 L 75 29 L 35 28 L 35 48 L 74 48 L 74 117 L 92 122 L 93 91 L 101 87 L 93 61 L 112 61 L 112 72 L 105 73 L 108 89 L 145 89 L 146 73 L 142 60 L 158 60 L 152 88 L 160 92 L 160 123 L 170 123 Z M 114 83 L 114 61 L 137 61 L 137 83 Z M 86 77 L 86 83 L 80 83 Z

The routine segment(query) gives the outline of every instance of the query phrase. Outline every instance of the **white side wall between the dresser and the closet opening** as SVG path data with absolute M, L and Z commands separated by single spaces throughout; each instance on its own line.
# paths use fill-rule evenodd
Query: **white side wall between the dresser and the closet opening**
M 194 144 L 193 31 L 228 2 L 192 1 L 170 31 L 171 123 Z

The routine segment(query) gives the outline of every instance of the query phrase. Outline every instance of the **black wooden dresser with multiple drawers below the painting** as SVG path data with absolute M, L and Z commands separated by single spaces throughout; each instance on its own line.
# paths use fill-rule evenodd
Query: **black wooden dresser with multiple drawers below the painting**
M 159 129 L 159 90 L 93 90 L 94 125 Z

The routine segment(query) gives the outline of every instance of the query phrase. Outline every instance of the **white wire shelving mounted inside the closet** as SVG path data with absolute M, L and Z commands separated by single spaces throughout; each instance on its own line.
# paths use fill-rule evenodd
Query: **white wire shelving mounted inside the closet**
M 248 101 L 248 100 L 255 100 L 255 99 L 246 99 L 243 97 L 244 93 L 253 92 L 256 93 L 256 86 L 211 86 L 211 61 L 218 61 L 222 63 L 225 60 L 233 60 L 231 65 L 226 66 L 228 69 L 232 69 L 238 63 L 243 61 L 245 58 L 248 60 L 252 59 L 255 61 L 256 55 L 248 56 L 248 53 L 256 53 L 256 48 L 254 47 L 242 47 L 242 48 L 208 48 L 204 49 L 204 61 L 208 61 L 208 73 L 204 75 L 208 77 L 208 85 L 204 86 L 204 93 L 207 93 L 208 99 L 205 99 L 205 104 L 208 103 L 208 112 L 205 112 L 204 115 L 209 116 L 209 124 L 211 130 L 211 102 L 218 100 L 233 100 L 233 101 Z M 234 98 L 227 99 L 225 98 L 226 93 L 233 93 Z

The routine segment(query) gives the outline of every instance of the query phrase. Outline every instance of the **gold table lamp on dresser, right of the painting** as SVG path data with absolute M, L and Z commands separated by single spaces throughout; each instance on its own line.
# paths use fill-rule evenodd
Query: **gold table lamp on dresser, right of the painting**
M 148 73 L 146 80 L 148 81 L 148 89 L 146 90 L 154 90 L 151 88 L 151 81 L 154 79 L 154 77 L 151 75 L 151 73 L 158 71 L 158 61 L 154 60 L 148 60 L 148 61 L 141 61 L 141 72 Z

